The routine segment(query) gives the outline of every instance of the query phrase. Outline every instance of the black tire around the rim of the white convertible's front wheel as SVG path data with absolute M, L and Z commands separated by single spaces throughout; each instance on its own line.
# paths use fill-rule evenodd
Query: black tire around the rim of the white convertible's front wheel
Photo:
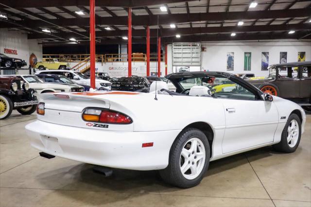
M 287 137 L 288 137 L 288 127 L 291 124 L 291 121 L 297 121 L 298 123 L 298 128 L 299 128 L 299 133 L 298 133 L 298 138 L 297 138 L 297 142 L 296 144 L 291 147 L 289 142 L 287 141 Z M 285 124 L 285 127 L 283 129 L 282 135 L 281 135 L 281 141 L 277 144 L 272 145 L 273 148 L 278 151 L 278 152 L 282 152 L 282 153 L 294 153 L 299 145 L 300 142 L 300 138 L 301 138 L 301 122 L 299 117 L 296 114 L 291 114 Z

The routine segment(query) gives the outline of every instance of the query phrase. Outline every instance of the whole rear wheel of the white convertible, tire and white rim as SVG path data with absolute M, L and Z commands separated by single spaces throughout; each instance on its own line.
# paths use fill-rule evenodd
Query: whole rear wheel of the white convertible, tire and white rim
M 194 128 L 181 132 L 174 141 L 169 165 L 160 170 L 162 179 L 179 188 L 198 185 L 207 171 L 210 149 L 205 134 Z

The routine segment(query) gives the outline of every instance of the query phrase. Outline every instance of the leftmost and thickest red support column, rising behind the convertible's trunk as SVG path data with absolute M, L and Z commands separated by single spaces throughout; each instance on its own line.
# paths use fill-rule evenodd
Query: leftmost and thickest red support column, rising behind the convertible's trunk
M 89 52 L 90 52 L 90 73 L 91 88 L 95 89 L 95 0 L 89 0 Z

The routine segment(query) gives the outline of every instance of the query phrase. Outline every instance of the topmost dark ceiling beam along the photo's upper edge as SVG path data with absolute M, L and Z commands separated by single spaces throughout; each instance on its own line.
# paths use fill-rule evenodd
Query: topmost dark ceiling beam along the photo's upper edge
M 99 0 L 96 6 L 141 7 L 177 2 L 184 2 L 184 0 Z M 89 6 L 89 0 L 1 0 L 1 3 L 12 8 Z M 1 7 L 5 8 L 0 5 Z

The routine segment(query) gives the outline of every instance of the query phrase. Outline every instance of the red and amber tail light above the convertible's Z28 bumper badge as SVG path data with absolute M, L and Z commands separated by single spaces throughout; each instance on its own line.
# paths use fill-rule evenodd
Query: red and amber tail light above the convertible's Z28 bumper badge
M 82 114 L 84 121 L 115 123 L 115 124 L 130 124 L 132 119 L 118 111 L 113 111 L 104 108 L 86 108 Z

